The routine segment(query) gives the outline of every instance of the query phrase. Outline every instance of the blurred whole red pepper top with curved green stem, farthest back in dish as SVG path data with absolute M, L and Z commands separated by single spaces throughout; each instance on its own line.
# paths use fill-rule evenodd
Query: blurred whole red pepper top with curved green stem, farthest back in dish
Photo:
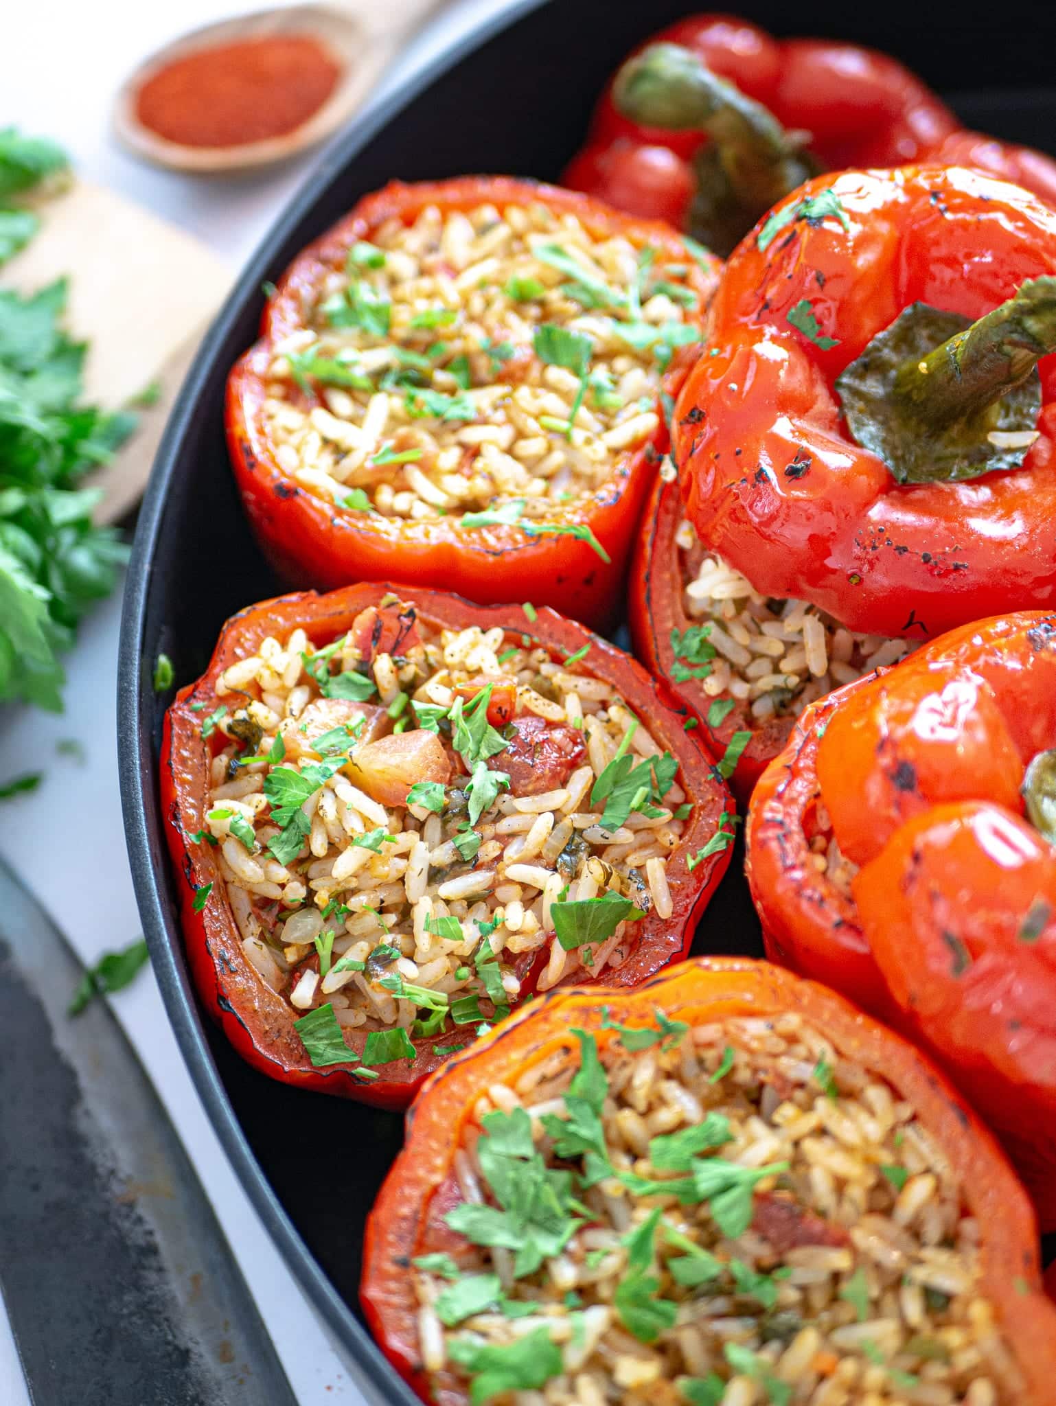
M 889 55 L 702 14 L 623 65 L 565 184 L 728 253 L 816 172 L 924 160 L 979 166 L 1056 202 L 1050 157 L 965 131 Z

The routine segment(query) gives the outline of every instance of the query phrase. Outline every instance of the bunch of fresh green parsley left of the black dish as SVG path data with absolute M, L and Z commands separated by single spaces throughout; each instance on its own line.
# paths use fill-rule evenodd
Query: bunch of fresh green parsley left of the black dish
M 0 262 L 37 229 L 13 198 L 65 169 L 55 143 L 0 131 Z M 127 557 L 114 529 L 93 524 L 101 494 L 82 479 L 135 427 L 128 412 L 80 404 L 87 346 L 63 330 L 65 307 L 65 280 L 28 298 L 0 291 L 0 702 L 52 711 L 58 655 Z

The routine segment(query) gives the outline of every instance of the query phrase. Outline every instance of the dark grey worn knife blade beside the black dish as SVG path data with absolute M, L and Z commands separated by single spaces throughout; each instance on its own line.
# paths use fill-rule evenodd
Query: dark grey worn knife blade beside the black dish
M 0 865 L 0 1284 L 38 1406 L 295 1406 L 110 1008 Z

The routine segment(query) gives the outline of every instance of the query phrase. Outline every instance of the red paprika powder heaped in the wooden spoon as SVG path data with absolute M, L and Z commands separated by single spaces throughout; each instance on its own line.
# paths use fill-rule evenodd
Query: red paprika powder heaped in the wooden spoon
M 139 89 L 139 122 L 181 146 L 243 146 L 287 136 L 323 105 L 340 63 L 309 34 L 198 49 Z

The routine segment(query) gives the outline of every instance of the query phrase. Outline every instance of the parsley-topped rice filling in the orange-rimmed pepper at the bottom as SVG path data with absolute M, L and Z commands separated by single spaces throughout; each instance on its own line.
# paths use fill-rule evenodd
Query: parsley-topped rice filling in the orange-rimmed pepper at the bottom
M 533 1406 L 1021 1399 L 956 1171 L 882 1077 L 793 1014 L 668 1021 L 600 1062 L 574 1033 L 463 1130 L 449 1253 L 415 1260 L 434 1381 Z

